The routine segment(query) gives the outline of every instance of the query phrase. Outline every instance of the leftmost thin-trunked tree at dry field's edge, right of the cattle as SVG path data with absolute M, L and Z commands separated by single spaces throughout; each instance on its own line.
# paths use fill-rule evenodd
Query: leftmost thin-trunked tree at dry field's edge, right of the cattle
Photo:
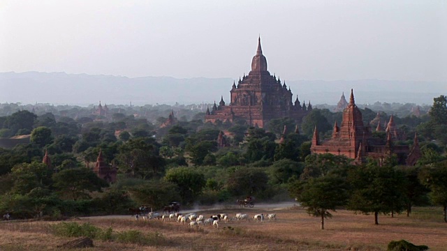
M 321 218 L 321 230 L 324 229 L 324 219 L 332 218 L 329 211 L 344 206 L 348 199 L 346 181 L 337 176 L 310 178 L 291 186 L 291 195 L 307 207 L 307 213 Z

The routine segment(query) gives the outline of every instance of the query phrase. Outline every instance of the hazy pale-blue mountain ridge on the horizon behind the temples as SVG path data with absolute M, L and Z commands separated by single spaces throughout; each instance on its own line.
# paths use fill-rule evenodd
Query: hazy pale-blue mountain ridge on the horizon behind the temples
M 0 73 L 0 102 L 24 104 L 54 103 L 69 105 L 97 104 L 180 104 L 227 103 L 233 81 L 231 78 L 194 77 L 122 77 L 67 73 Z M 447 95 L 447 82 L 406 82 L 390 80 L 287 80 L 301 102 L 313 105 L 336 105 L 342 92 L 349 98 L 354 89 L 359 104 L 400 102 L 432 104 L 433 98 Z

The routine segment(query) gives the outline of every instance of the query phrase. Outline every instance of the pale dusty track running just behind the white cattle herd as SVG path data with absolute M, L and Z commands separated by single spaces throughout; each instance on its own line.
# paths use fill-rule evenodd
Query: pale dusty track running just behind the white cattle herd
M 244 208 L 244 210 L 255 210 L 255 211 L 270 211 L 270 210 L 279 210 L 284 208 L 291 208 L 293 206 L 299 206 L 299 204 L 296 201 L 284 201 L 279 203 L 260 203 L 255 204 L 253 208 Z M 193 212 L 203 212 L 203 211 L 216 211 L 221 210 L 225 212 L 226 210 L 234 210 L 240 208 L 237 205 L 233 204 L 221 204 L 221 205 L 215 205 L 215 206 L 203 206 L 203 207 L 196 207 L 188 210 L 181 210 L 180 213 L 193 213 Z M 156 211 L 157 213 L 161 213 Z M 90 217 L 81 217 L 81 219 L 126 219 L 131 217 L 131 215 L 103 215 L 103 216 L 90 216 Z

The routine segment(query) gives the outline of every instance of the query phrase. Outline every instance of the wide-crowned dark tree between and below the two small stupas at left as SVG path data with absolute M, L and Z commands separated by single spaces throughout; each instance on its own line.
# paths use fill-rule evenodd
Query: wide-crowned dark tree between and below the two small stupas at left
M 101 191 L 101 188 L 108 185 L 107 182 L 86 168 L 61 170 L 61 172 L 53 174 L 52 180 L 54 188 L 57 188 L 61 195 L 71 197 L 73 200 L 89 198 L 88 192 Z

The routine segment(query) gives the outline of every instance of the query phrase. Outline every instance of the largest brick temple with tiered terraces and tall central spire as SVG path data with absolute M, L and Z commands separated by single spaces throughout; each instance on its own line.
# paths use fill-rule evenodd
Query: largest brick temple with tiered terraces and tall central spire
M 230 103 L 223 101 L 219 106 L 214 102 L 210 110 L 207 109 L 205 122 L 230 122 L 235 119 L 247 121 L 249 126 L 263 128 L 271 119 L 288 117 L 299 123 L 303 116 L 312 110 L 312 105 L 300 104 L 298 96 L 293 102 L 293 94 L 286 82 L 279 77 L 270 75 L 267 70 L 267 59 L 261 49 L 261 38 L 258 39 L 258 50 L 251 61 L 251 71 L 237 84 L 233 82 L 230 91 Z

